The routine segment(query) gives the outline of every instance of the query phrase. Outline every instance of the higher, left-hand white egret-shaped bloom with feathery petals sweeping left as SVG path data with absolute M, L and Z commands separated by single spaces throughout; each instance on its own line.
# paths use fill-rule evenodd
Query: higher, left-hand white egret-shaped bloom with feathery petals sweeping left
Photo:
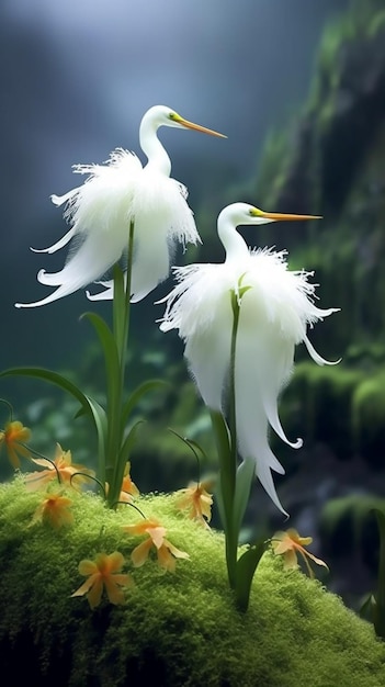
M 184 120 L 165 105 L 150 108 L 139 128 L 139 143 L 148 158 L 145 167 L 134 153 L 115 149 L 104 165 L 76 165 L 73 171 L 89 174 L 86 182 L 65 195 L 52 195 L 55 205 L 65 204 L 64 216 L 70 229 L 60 240 L 35 252 L 53 254 L 75 239 L 63 270 L 41 270 L 37 280 L 57 286 L 42 301 L 16 303 L 36 307 L 61 299 L 100 280 L 127 254 L 131 223 L 134 228 L 132 301 L 144 299 L 169 274 L 175 240 L 200 240 L 193 213 L 186 203 L 185 187 L 170 178 L 171 162 L 157 137 L 160 126 L 192 128 L 224 137 L 210 128 Z M 33 249 L 32 249 L 33 250 Z M 106 292 L 91 299 L 111 299 L 112 282 L 102 282 Z

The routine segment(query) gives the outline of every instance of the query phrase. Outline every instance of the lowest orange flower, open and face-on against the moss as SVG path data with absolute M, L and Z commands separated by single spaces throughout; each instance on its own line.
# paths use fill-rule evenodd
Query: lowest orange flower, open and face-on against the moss
M 124 594 L 121 587 L 133 584 L 133 578 L 128 574 L 120 573 L 124 565 L 124 556 L 118 551 L 113 553 L 98 553 L 94 561 L 84 559 L 79 563 L 80 575 L 88 575 L 88 579 L 71 594 L 72 596 L 83 596 L 87 594 L 91 608 L 99 606 L 103 587 L 111 604 L 124 604 Z

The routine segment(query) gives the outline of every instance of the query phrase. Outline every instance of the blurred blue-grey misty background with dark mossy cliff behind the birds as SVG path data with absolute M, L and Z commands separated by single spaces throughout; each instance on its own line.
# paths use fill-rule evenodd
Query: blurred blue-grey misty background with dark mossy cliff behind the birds
M 245 537 L 297 527 L 331 573 L 332 590 L 358 608 L 375 586 L 378 542 L 371 508 L 385 507 L 385 9 L 383 0 L 3 0 L 0 8 L 2 217 L 1 368 L 49 367 L 102 399 L 97 342 L 79 315 L 84 294 L 36 309 L 15 301 L 46 294 L 41 268 L 65 256 L 32 254 L 65 233 L 49 201 L 76 185 L 71 165 L 101 162 L 122 146 L 140 155 L 144 112 L 166 104 L 215 128 L 227 140 L 161 129 L 172 176 L 190 190 L 204 239 L 183 261 L 223 259 L 215 222 L 228 203 L 324 215 L 321 225 L 261 227 L 250 245 L 290 249 L 292 269 L 315 270 L 324 307 L 341 313 L 310 333 L 336 368 L 297 351 L 281 417 L 293 451 L 273 436 L 286 469 L 278 492 L 288 523 L 256 484 Z M 127 386 L 170 382 L 138 408 L 144 425 L 132 460 L 143 491 L 171 491 L 197 478 L 192 452 L 172 427 L 206 452 L 201 474 L 215 473 L 206 410 L 189 380 L 177 336 L 155 319 L 162 284 L 133 308 Z M 109 305 L 98 304 L 109 318 Z M 31 380 L 1 382 L 35 447 L 55 442 L 76 462 L 95 446 L 77 407 Z M 3 407 L 4 424 L 8 409 Z M 94 464 L 94 463 L 93 463 Z M 3 478 L 11 475 L 1 459 Z

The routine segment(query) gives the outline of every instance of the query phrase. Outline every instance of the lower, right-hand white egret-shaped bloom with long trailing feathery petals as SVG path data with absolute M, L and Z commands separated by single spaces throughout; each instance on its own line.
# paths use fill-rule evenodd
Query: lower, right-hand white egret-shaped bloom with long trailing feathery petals
M 256 473 L 273 503 L 285 513 L 271 471 L 284 470 L 268 441 L 269 425 L 293 448 L 278 414 L 278 397 L 288 381 L 294 349 L 304 341 L 318 364 L 328 363 L 313 348 L 307 326 L 337 312 L 320 309 L 313 301 L 313 272 L 290 271 L 286 251 L 250 250 L 236 230 L 238 225 L 316 218 L 312 215 L 267 213 L 246 203 L 234 203 L 218 216 L 218 236 L 226 250 L 222 264 L 173 268 L 174 289 L 160 301 L 166 312 L 160 329 L 178 329 L 185 342 L 184 356 L 204 403 L 226 417 L 234 314 L 231 292 L 238 294 L 234 388 L 238 451 L 256 462 Z M 333 364 L 333 363 L 328 363 Z

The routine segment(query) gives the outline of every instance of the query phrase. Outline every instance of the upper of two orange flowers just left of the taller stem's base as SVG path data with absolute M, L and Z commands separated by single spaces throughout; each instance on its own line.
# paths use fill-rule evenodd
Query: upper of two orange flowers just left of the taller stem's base
M 60 482 L 64 484 L 70 484 L 72 475 L 77 472 L 83 473 L 76 476 L 77 484 L 87 482 L 88 476 L 94 475 L 93 470 L 88 470 L 84 465 L 72 463 L 71 452 L 64 451 L 59 443 L 56 444 L 56 453 L 53 462 L 45 458 L 33 458 L 32 460 L 36 465 L 42 465 L 46 468 L 46 470 L 31 472 L 25 476 L 25 485 L 29 492 L 35 492 L 44 487 L 48 482 L 57 480 L 58 475 L 60 476 Z

